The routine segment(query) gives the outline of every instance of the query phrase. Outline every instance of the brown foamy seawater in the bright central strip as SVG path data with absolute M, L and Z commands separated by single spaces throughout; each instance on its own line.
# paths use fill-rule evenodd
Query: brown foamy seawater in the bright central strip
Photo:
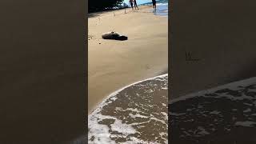
M 110 94 L 88 116 L 88 143 L 168 143 L 168 74 Z

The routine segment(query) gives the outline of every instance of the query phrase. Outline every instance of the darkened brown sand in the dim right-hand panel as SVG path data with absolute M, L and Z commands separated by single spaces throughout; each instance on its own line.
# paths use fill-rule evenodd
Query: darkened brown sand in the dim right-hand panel
M 170 99 L 255 76 L 255 1 L 174 2 Z M 186 61 L 186 52 L 199 61 Z

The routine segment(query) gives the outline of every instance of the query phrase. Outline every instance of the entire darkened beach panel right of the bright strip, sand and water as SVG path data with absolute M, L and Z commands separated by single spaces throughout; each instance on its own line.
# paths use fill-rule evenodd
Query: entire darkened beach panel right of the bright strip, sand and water
M 255 4 L 174 2 L 170 143 L 256 142 Z

